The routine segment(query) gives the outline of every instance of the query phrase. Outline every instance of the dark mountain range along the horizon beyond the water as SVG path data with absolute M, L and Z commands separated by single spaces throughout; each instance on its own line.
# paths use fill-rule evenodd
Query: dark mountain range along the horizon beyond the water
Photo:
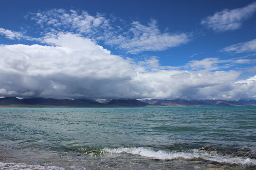
M 196 107 L 196 106 L 256 106 L 256 100 L 161 100 L 161 99 L 45 99 L 16 97 L 0 98 L 0 107 Z

